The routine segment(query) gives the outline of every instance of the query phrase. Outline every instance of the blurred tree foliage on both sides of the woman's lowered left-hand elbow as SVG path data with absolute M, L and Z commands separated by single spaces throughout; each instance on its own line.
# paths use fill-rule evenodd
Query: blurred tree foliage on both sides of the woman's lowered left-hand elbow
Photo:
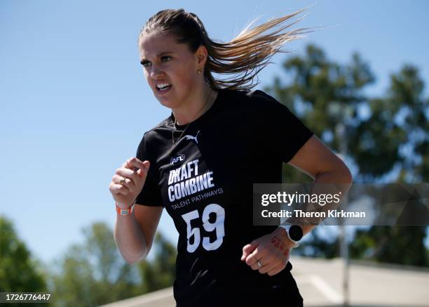
M 83 229 L 83 243 L 73 244 L 52 273 L 55 306 L 99 306 L 171 287 L 175 279 L 175 247 L 157 233 L 154 259 L 130 265 L 105 223 Z

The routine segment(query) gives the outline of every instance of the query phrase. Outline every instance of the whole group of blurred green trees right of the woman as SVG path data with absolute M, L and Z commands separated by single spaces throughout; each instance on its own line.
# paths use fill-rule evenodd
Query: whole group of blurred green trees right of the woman
M 329 148 L 346 155 L 351 166 L 358 169 L 355 182 L 382 181 L 395 169 L 400 171 L 394 182 L 429 181 L 429 99 L 423 97 L 424 82 L 416 67 L 404 65 L 392 74 L 386 95 L 377 98 L 365 95 L 365 86 L 374 83 L 375 77 L 357 53 L 353 53 L 350 64 L 339 65 L 328 60 L 317 46 L 308 45 L 304 56 L 288 58 L 283 67 L 290 82 L 282 84 L 280 77 L 275 77 L 266 91 L 299 115 Z M 363 116 L 362 110 L 369 110 L 369 114 Z M 283 181 L 308 183 L 311 178 L 285 164 Z M 361 230 L 352 244 L 352 255 L 429 265 L 423 245 L 425 229 L 374 226 Z M 409 238 L 407 242 L 402 236 Z M 324 253 L 320 247 L 338 244 L 337 240 L 328 242 L 317 231 L 311 237 L 315 248 L 303 245 L 301 254 L 333 256 L 332 249 Z M 374 253 L 375 243 L 379 248 Z M 398 254 L 404 246 L 413 250 L 410 256 Z

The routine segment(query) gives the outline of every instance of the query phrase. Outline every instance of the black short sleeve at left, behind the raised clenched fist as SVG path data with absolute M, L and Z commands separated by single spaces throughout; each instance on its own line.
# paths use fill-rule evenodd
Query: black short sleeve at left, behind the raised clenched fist
M 146 181 L 144 182 L 142 192 L 135 199 L 136 204 L 144 204 L 146 206 L 158 207 L 163 206 L 161 199 L 161 190 L 158 188 L 158 180 L 156 177 L 156 160 L 152 158 L 147 151 L 148 134 L 144 133 L 142 141 L 139 143 L 135 157 L 141 160 L 149 160 L 151 166 L 147 173 Z M 137 168 L 136 168 L 137 170 Z

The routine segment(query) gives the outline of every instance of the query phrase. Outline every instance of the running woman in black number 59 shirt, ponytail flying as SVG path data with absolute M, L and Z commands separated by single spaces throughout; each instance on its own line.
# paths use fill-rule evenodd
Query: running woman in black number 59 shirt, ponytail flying
M 350 183 L 350 171 L 285 105 L 251 91 L 280 46 L 304 33 L 282 33 L 302 11 L 227 43 L 183 9 L 156 13 L 139 34 L 144 76 L 172 113 L 112 178 L 114 234 L 128 263 L 145 259 L 166 209 L 179 233 L 179 307 L 303 304 L 289 256 L 314 226 L 253 226 L 253 183 L 281 183 L 283 162 L 314 183 Z

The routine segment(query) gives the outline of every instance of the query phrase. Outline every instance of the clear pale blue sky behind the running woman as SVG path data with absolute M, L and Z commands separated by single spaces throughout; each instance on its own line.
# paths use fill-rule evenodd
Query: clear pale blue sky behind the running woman
M 144 131 L 170 112 L 152 95 L 137 53 L 144 22 L 164 8 L 196 13 L 213 39 L 227 41 L 250 20 L 313 6 L 294 28 L 325 26 L 287 46 L 317 44 L 348 63 L 357 51 L 376 75 L 367 89 L 383 95 L 404 63 L 429 80 L 429 2 L 413 1 L 13 1 L 0 2 L 0 214 L 42 259 L 81 242 L 95 221 L 114 226 L 109 182 L 135 155 Z M 276 64 L 260 72 L 261 84 Z M 428 95 L 428 89 L 425 89 Z M 164 212 L 160 229 L 176 240 Z

